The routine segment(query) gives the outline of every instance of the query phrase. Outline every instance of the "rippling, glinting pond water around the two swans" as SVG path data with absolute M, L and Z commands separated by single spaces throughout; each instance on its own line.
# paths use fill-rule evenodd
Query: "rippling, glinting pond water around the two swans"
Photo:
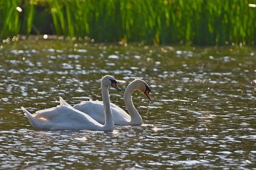
M 256 169 L 256 51 L 250 47 L 148 47 L 40 40 L 0 49 L 0 168 Z M 114 132 L 38 131 L 23 115 L 101 100 L 100 78 L 123 90 L 134 78 L 142 126 Z M 110 100 L 124 107 L 123 91 Z M 148 111 L 149 107 L 149 111 Z M 148 111 L 148 113 L 147 113 Z

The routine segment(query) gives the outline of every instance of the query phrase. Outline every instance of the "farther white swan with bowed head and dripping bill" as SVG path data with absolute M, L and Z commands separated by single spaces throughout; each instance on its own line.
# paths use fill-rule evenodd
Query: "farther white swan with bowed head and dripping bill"
M 142 118 L 132 103 L 132 92 L 134 90 L 139 90 L 140 92 L 143 92 L 147 96 L 148 100 L 150 100 L 151 102 L 152 99 L 149 93 L 151 90 L 146 82 L 140 79 L 136 79 L 130 82 L 130 84 L 127 86 L 124 92 L 124 104 L 128 110 L 128 113 L 130 113 L 130 115 L 120 107 L 110 103 L 115 125 L 141 125 L 142 124 Z M 81 102 L 80 104 L 76 104 L 73 106 L 73 108 L 78 109 L 90 115 L 94 120 L 104 124 L 105 120 L 104 120 L 104 113 L 103 113 L 103 104 L 101 101 L 98 101 L 98 100 L 97 101 L 90 100 L 90 101 Z M 70 106 L 61 97 L 60 97 L 60 105 Z

